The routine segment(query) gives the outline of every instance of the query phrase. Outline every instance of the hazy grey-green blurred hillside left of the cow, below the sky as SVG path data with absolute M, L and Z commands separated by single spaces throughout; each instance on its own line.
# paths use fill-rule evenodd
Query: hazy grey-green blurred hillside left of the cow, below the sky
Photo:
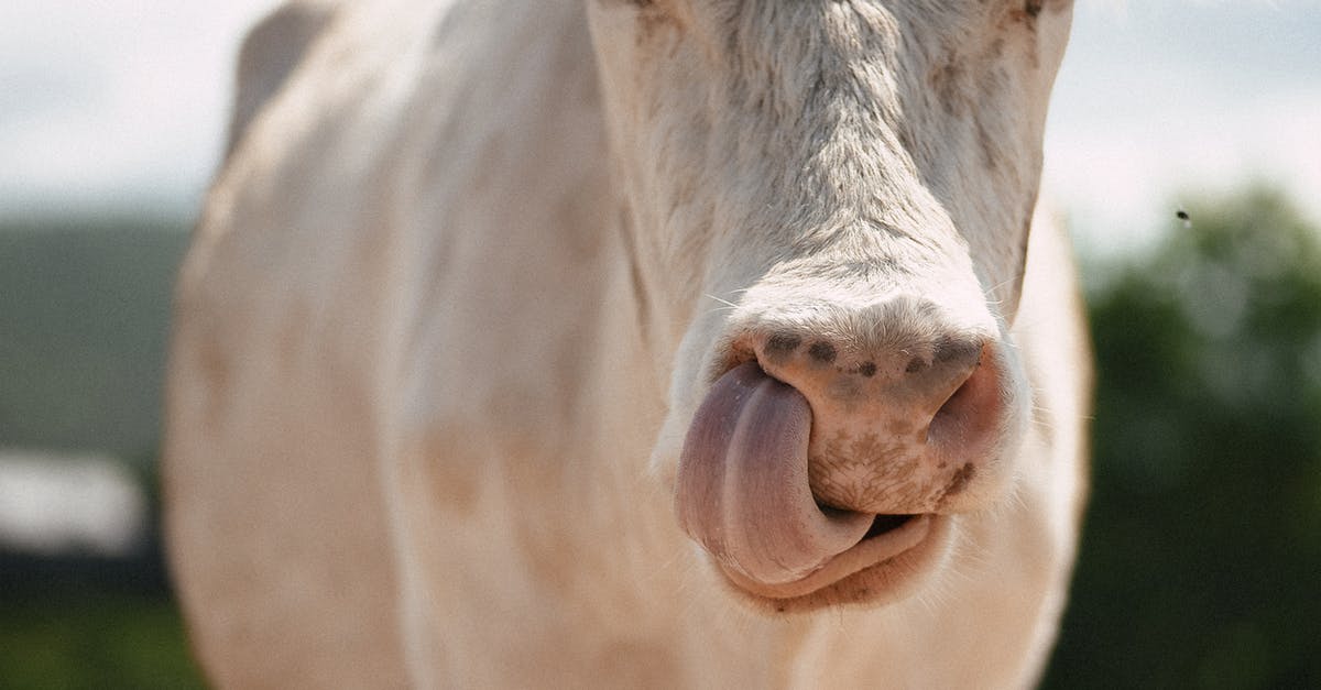
M 155 455 L 186 226 L 0 226 L 0 445 Z

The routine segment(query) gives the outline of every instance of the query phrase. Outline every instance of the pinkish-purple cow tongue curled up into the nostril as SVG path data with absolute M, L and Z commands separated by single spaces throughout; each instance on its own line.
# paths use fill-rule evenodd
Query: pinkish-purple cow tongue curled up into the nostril
M 692 419 L 675 510 L 727 568 L 764 584 L 801 580 L 860 542 L 861 513 L 823 513 L 807 484 L 807 401 L 754 362 L 716 381 Z

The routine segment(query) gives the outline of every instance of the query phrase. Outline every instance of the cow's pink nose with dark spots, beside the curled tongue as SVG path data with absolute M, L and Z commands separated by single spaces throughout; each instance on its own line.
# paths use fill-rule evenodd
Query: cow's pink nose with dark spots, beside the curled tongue
M 911 514 L 968 501 L 1003 431 L 1001 367 L 991 338 L 931 330 L 873 344 L 783 329 L 753 337 L 762 370 L 811 408 L 819 504 Z

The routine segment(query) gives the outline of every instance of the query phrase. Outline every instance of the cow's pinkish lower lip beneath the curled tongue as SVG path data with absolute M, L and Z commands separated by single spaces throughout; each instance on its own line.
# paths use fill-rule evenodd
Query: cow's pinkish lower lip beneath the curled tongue
M 734 590 L 761 608 L 811 611 L 834 604 L 880 604 L 901 597 L 930 571 L 948 542 L 951 516 L 876 516 L 867 535 L 802 579 L 766 584 L 719 566 Z

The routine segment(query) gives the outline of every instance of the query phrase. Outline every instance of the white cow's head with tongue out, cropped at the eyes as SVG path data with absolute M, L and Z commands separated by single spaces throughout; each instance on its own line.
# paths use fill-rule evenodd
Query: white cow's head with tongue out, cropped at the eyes
M 1008 337 L 1067 0 L 592 0 L 683 529 L 778 611 L 878 603 L 1011 493 Z

